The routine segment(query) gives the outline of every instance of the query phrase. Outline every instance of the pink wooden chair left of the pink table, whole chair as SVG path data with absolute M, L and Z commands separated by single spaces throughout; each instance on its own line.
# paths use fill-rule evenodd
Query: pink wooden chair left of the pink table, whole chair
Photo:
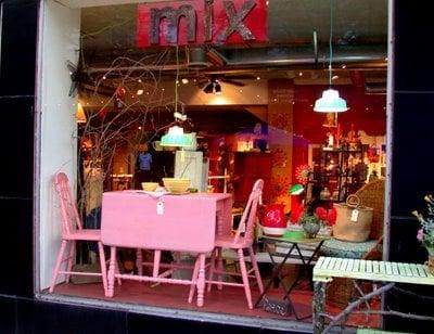
M 107 290 L 107 272 L 104 256 L 104 248 L 101 243 L 101 231 L 84 229 L 76 203 L 71 191 L 69 181 L 64 172 L 58 172 L 54 176 L 54 187 L 58 192 L 61 205 L 61 222 L 62 222 L 62 244 L 55 261 L 54 272 L 51 280 L 50 293 L 54 291 L 55 281 L 59 274 L 66 274 L 66 283 L 69 283 L 71 274 L 80 275 L 99 275 L 102 277 L 104 293 Z M 73 262 L 76 253 L 76 241 L 94 241 L 98 243 L 100 255 L 101 272 L 75 272 L 72 271 Z M 67 246 L 69 245 L 69 253 L 64 257 Z M 67 261 L 66 270 L 61 270 L 62 262 Z

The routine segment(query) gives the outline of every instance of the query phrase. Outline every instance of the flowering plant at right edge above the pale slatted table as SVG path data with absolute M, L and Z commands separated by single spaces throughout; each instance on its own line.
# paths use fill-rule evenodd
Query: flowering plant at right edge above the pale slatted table
M 426 248 L 429 254 L 427 266 L 431 273 L 434 274 L 434 197 L 426 195 L 424 197 L 427 205 L 427 215 L 423 216 L 419 211 L 412 211 L 413 216 L 418 218 L 421 228 L 418 231 L 417 239 Z

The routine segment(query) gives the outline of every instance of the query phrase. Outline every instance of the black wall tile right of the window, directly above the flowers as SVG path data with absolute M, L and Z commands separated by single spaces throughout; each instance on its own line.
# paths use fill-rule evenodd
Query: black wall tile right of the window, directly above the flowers
M 392 215 L 411 216 L 434 191 L 434 93 L 397 93 L 394 106 Z

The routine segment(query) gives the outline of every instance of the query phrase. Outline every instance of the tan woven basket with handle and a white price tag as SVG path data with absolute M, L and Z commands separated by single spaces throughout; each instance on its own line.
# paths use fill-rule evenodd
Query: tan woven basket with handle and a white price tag
M 369 237 L 373 209 L 362 206 L 360 197 L 349 195 L 345 204 L 334 205 L 337 211 L 333 236 L 349 242 L 365 242 Z

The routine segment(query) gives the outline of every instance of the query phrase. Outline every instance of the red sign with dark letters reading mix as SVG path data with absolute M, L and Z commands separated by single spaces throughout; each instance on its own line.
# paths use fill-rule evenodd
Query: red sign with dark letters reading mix
M 265 0 L 190 0 L 138 5 L 137 46 L 267 41 Z

